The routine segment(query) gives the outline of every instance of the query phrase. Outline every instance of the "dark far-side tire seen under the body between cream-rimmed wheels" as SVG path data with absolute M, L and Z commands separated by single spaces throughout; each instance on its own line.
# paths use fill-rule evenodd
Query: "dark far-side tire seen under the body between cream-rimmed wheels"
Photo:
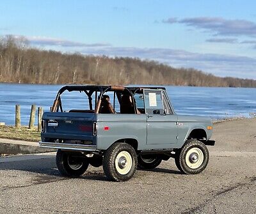
M 138 155 L 138 169 L 154 169 L 161 162 L 162 159 L 157 155 Z

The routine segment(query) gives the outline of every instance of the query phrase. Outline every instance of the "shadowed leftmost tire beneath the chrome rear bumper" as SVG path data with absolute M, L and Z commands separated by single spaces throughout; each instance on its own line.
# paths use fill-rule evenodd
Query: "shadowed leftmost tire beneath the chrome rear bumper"
M 70 153 L 58 149 L 56 154 L 56 165 L 62 176 L 77 178 L 88 168 L 86 158 L 77 158 Z

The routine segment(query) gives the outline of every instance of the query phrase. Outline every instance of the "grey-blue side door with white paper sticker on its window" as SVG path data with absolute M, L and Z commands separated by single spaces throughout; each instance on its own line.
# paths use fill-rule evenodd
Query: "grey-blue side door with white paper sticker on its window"
M 177 144 L 177 115 L 173 114 L 164 91 L 144 89 L 144 103 L 147 115 L 147 144 L 157 144 L 159 148 L 161 144 Z

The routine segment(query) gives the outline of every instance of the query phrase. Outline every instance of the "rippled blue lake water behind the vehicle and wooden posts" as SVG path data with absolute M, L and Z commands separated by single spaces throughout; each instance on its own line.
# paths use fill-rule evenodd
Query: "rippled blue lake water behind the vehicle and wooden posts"
M 28 125 L 31 104 L 48 111 L 61 85 L 0 84 L 0 122 L 15 123 L 15 104 L 20 105 L 21 123 Z M 255 88 L 205 88 L 166 86 L 175 112 L 210 116 L 212 119 L 250 117 L 256 113 Z M 83 95 L 84 96 L 84 95 Z M 67 95 L 67 107 L 74 109 L 82 97 Z

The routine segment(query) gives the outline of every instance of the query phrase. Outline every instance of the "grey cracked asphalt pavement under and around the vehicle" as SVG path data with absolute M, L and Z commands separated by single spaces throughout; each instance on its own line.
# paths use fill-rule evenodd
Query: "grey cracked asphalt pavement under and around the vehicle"
M 219 142 L 197 175 L 180 174 L 170 159 L 124 183 L 91 166 L 70 179 L 60 176 L 55 153 L 0 158 L 0 213 L 256 213 L 255 134 L 248 132 L 252 141 L 227 142 L 232 137 L 222 132 L 236 126 L 214 126 Z

